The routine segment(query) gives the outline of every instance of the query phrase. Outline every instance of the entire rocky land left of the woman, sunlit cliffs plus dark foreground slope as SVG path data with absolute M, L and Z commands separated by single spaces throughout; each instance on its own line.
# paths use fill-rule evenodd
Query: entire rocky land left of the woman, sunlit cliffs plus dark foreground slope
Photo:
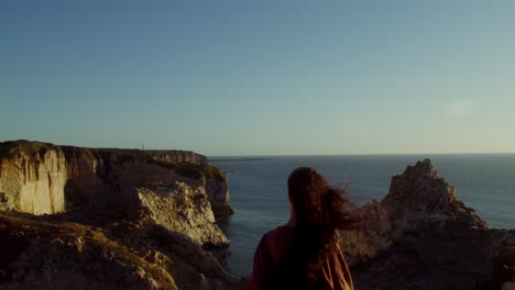
M 0 289 L 243 289 L 204 249 L 228 202 L 195 153 L 0 143 Z

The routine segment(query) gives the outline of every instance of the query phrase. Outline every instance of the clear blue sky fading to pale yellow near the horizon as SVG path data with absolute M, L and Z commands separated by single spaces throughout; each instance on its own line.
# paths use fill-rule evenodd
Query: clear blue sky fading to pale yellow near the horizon
M 0 141 L 515 152 L 515 1 L 0 1 Z

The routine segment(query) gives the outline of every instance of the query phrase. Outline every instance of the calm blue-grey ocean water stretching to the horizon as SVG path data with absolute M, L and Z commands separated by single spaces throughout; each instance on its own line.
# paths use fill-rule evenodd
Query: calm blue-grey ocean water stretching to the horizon
M 231 157 L 234 159 L 234 157 Z M 266 160 L 227 161 L 211 165 L 229 178 L 234 214 L 218 221 L 231 242 L 229 271 L 249 277 L 255 247 L 262 235 L 289 217 L 286 180 L 299 166 L 310 166 L 332 185 L 350 181 L 349 196 L 357 204 L 381 200 L 388 193 L 392 176 L 407 165 L 431 159 L 458 199 L 478 211 L 490 227 L 515 227 L 515 154 L 273 156 Z M 218 159 L 218 161 L 216 161 Z

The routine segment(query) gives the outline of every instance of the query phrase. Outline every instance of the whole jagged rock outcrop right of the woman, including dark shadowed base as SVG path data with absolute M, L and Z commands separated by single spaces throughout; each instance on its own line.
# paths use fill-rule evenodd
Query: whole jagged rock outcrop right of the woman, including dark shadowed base
M 492 257 L 513 231 L 490 230 L 429 159 L 394 176 L 390 193 L 357 210 L 343 235 L 357 289 L 497 289 Z

